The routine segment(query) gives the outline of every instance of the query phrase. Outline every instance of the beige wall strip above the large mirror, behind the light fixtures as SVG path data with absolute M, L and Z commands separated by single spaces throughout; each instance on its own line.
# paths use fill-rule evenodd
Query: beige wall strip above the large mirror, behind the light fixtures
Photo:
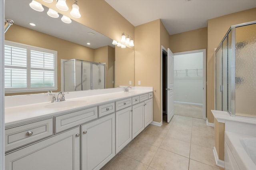
M 113 40 L 120 41 L 123 32 L 134 38 L 134 26 L 104 0 L 79 0 L 78 6 L 81 18 L 70 16 L 70 10 L 67 12 L 58 10 L 55 1 L 52 3 L 42 0 L 36 1 Z M 66 3 L 71 8 L 74 0 L 66 0 Z M 136 39 L 134 39 L 134 44 L 136 44 Z

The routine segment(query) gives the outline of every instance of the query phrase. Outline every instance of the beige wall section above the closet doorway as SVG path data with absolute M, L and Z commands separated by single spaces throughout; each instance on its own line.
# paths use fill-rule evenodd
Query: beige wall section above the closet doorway
M 207 27 L 170 35 L 173 53 L 207 48 Z

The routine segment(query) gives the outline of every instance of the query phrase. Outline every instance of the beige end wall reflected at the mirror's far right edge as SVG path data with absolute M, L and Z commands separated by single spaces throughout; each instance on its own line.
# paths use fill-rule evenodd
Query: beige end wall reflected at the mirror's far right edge
M 115 65 L 116 87 L 120 85 L 134 86 L 134 50 L 116 46 Z M 132 81 L 131 85 L 129 85 L 129 81 Z

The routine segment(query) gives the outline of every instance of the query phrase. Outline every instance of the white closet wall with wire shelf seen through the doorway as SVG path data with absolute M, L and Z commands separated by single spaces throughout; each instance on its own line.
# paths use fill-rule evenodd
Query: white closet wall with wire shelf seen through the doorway
M 175 102 L 203 104 L 202 69 L 203 52 L 174 55 Z

